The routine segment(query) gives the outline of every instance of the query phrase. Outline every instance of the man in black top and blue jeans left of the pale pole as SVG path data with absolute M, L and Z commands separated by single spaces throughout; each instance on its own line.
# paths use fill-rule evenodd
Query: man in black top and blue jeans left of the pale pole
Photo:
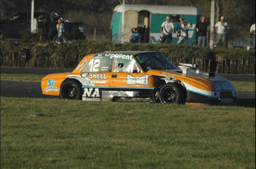
M 197 45 L 198 46 L 206 46 L 207 38 L 207 26 L 210 25 L 211 22 L 207 21 L 204 16 L 201 17 L 201 22 L 198 22 L 196 25 L 196 31 L 197 31 Z

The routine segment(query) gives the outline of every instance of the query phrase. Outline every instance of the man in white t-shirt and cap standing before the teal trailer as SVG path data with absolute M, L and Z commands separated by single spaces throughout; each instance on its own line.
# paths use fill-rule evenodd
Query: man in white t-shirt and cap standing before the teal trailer
M 164 43 L 167 39 L 167 43 L 172 43 L 172 33 L 174 33 L 173 23 L 170 22 L 170 17 L 166 17 L 166 21 L 161 25 L 160 33 L 163 33 L 162 42 Z

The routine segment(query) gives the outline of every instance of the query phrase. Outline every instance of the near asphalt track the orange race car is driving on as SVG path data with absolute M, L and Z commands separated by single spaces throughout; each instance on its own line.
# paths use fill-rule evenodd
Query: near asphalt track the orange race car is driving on
M 1 97 L 60 99 L 60 96 L 43 95 L 40 82 L 1 80 L 0 83 Z M 255 107 L 255 92 L 237 91 L 237 106 Z

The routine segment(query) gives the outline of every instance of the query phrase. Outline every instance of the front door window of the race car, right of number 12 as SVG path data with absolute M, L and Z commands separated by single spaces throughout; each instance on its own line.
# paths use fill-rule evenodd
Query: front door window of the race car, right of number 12
M 114 72 L 132 73 L 134 71 L 137 73 L 140 72 L 140 68 L 134 59 L 129 62 L 124 62 L 117 59 L 114 60 Z

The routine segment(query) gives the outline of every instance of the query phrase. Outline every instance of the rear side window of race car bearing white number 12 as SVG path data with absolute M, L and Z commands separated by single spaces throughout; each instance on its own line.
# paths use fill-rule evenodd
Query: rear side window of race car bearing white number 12
M 113 61 L 102 56 L 93 57 L 81 72 L 111 72 Z

